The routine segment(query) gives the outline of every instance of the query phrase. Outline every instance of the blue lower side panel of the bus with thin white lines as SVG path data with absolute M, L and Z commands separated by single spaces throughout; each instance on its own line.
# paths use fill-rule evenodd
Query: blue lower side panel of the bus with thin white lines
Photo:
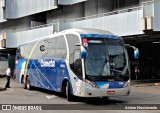
M 52 63 L 42 64 L 42 60 L 44 62 L 54 61 L 55 65 L 52 66 Z M 23 62 L 26 62 L 26 59 L 18 60 L 18 63 L 16 64 L 17 70 L 19 70 L 17 73 L 17 79 L 19 80 L 21 78 L 20 71 Z M 28 63 L 27 75 L 30 78 L 31 86 L 57 92 L 61 92 L 61 85 L 63 80 L 68 79 L 69 84 L 71 85 L 70 93 L 73 94 L 72 84 L 67 70 L 66 62 L 63 59 L 30 59 Z

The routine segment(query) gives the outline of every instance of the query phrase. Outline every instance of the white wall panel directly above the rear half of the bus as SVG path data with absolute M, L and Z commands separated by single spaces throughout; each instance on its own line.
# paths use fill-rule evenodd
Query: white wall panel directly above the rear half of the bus
M 6 47 L 13 48 L 26 42 L 53 34 L 53 27 L 47 26 L 39 29 L 31 29 L 21 32 L 7 32 Z

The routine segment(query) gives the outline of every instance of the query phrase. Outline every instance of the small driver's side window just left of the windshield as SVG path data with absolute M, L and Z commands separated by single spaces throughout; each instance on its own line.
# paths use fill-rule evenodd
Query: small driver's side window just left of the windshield
M 73 55 L 73 67 L 77 76 L 82 77 L 82 62 L 80 57 L 80 50 L 75 50 Z

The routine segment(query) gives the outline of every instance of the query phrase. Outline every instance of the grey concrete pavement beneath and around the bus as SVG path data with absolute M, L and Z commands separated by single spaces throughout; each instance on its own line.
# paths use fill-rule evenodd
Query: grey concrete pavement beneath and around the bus
M 4 87 L 6 78 L 0 78 L 0 87 Z M 131 86 L 131 94 L 129 96 L 110 97 L 109 100 L 74 98 L 74 101 L 68 102 L 65 97 L 59 93 L 46 91 L 35 88 L 34 90 L 26 90 L 22 88 L 15 80 L 11 80 L 11 88 L 0 91 L 0 105 L 8 104 L 62 104 L 61 110 L 45 110 L 45 111 L 3 111 L 13 113 L 160 113 L 159 110 L 125 110 L 117 109 L 118 106 L 133 106 L 134 104 L 144 104 L 158 106 L 160 104 L 160 86 L 154 83 L 133 84 Z M 78 105 L 79 109 L 67 110 L 66 105 Z M 83 106 L 81 106 L 83 105 Z M 73 106 L 74 107 L 74 106 Z M 97 110 L 96 110 L 96 109 Z M 93 110 L 94 109 L 94 110 Z

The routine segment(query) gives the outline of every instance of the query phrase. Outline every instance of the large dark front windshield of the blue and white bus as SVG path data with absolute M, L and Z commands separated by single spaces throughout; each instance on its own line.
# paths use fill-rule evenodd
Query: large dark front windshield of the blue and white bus
M 122 40 L 88 39 L 86 51 L 85 70 L 87 76 L 126 75 L 127 60 Z

